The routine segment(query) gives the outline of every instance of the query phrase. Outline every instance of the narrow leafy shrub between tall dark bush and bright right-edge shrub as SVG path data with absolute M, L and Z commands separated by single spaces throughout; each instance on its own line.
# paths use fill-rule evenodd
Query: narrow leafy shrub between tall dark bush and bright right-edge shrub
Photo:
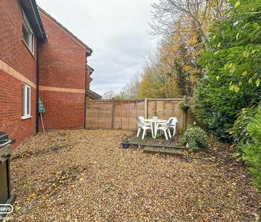
M 247 131 L 247 125 L 252 121 L 256 111 L 256 107 L 242 109 L 242 111 L 237 115 L 237 120 L 235 121 L 234 126 L 229 131 L 237 148 L 237 156 L 242 155 L 242 150 L 240 148 L 242 144 L 252 142 L 250 133 Z

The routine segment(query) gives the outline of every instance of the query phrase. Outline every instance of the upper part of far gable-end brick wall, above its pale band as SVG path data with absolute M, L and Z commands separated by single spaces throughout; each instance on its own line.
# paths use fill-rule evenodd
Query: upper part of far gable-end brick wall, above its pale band
M 48 41 L 41 46 L 40 85 L 84 89 L 86 48 L 41 12 Z

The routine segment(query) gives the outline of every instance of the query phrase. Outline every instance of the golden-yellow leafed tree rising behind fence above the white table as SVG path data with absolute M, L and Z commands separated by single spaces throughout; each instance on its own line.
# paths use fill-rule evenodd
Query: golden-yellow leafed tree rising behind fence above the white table
M 182 29 L 182 26 L 184 24 L 179 21 L 175 29 Z M 166 38 L 160 49 L 160 61 L 173 69 L 180 94 L 193 96 L 198 79 L 203 76 L 197 59 L 203 54 L 204 46 L 194 22 L 186 24 L 186 27 L 188 31 L 175 32 Z

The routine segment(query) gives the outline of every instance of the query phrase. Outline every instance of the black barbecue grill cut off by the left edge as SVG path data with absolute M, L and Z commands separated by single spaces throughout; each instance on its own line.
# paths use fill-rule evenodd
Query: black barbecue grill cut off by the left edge
M 14 139 L 9 139 L 7 133 L 0 132 L 0 205 L 11 204 L 14 202 L 15 196 L 10 191 L 10 157 L 11 144 Z M 1 212 L 0 212 L 0 218 Z

